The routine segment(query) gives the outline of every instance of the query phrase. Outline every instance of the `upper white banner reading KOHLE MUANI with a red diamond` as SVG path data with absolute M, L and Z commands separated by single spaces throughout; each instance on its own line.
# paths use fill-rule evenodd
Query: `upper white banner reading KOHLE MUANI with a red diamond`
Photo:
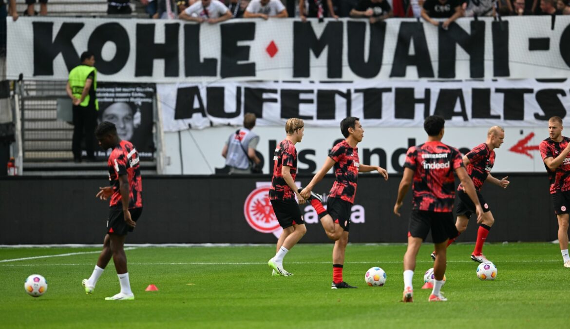
M 66 80 L 86 50 L 107 82 L 564 78 L 570 17 L 7 21 L 7 78 Z

